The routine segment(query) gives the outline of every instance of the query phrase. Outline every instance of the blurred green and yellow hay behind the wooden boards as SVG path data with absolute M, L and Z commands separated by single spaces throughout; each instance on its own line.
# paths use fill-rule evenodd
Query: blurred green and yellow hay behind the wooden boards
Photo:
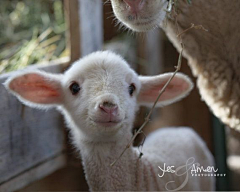
M 1 0 L 0 73 L 69 55 L 62 0 Z

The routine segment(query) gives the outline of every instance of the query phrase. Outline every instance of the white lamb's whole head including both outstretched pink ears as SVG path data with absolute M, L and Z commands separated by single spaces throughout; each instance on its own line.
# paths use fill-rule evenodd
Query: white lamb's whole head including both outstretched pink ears
M 129 134 L 137 105 L 152 106 L 171 76 L 137 76 L 119 55 L 103 51 L 77 61 L 63 75 L 18 72 L 5 86 L 30 107 L 58 107 L 77 135 L 75 141 L 82 134 L 93 142 Z M 176 74 L 157 106 L 180 100 L 192 87 L 188 77 Z

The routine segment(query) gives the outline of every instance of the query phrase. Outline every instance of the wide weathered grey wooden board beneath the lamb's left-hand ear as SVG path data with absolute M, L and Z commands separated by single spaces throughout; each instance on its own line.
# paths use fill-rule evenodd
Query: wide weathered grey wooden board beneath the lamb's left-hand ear
M 59 73 L 65 65 L 41 69 Z M 54 109 L 29 108 L 9 94 L 2 83 L 11 74 L 0 76 L 0 185 L 65 149 L 62 116 Z

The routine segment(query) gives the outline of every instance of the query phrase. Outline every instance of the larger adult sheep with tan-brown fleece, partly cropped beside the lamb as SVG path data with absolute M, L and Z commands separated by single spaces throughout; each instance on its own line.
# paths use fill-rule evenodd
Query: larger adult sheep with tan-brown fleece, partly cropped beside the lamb
M 129 28 L 146 31 L 156 23 L 134 25 L 134 19 L 128 20 L 128 11 L 119 0 L 111 0 L 116 16 Z M 129 0 L 124 0 L 129 1 Z M 161 23 L 174 46 L 180 51 L 181 45 L 177 38 L 176 23 L 166 17 L 166 0 L 146 1 L 146 8 L 139 11 L 144 18 L 161 14 L 156 19 Z M 121 8 L 120 8 L 121 7 Z M 240 1 L 239 0 L 195 0 L 191 5 L 178 0 L 177 16 L 179 30 L 184 31 L 191 26 L 202 25 L 208 32 L 189 30 L 183 37 L 184 56 L 188 59 L 193 74 L 197 77 L 202 98 L 214 114 L 230 127 L 240 130 Z M 157 9 L 157 10 L 156 10 Z

